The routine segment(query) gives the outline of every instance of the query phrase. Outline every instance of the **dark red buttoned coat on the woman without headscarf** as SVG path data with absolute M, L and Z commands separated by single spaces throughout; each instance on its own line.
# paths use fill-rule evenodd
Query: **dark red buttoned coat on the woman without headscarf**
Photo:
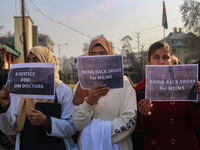
M 135 87 L 138 101 L 145 97 L 145 80 Z M 136 133 L 144 135 L 144 150 L 200 150 L 194 135 L 199 118 L 200 108 L 192 102 L 153 102 L 151 116 L 138 111 Z

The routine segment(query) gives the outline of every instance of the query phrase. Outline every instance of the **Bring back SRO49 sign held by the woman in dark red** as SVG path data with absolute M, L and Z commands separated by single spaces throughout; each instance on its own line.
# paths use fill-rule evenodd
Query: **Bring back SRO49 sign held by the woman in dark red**
M 152 101 L 197 101 L 198 65 L 146 65 L 145 98 Z

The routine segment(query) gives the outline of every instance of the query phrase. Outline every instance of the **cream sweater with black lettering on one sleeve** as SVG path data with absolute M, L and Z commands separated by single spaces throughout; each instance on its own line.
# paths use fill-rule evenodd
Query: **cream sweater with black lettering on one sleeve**
M 89 105 L 84 101 L 83 104 L 75 106 L 72 116 L 78 131 L 82 131 L 93 118 L 112 121 L 111 135 L 114 144 L 125 140 L 134 131 L 136 113 L 136 93 L 130 82 L 125 79 L 124 88 L 111 89 L 96 105 Z M 127 146 L 129 142 L 124 141 L 122 145 L 131 149 L 131 146 Z

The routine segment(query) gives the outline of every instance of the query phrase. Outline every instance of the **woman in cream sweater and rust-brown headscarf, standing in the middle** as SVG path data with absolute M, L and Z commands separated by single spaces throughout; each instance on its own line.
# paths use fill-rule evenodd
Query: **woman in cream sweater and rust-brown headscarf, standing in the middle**
M 112 46 L 106 39 L 97 38 L 91 42 L 89 56 L 112 54 Z M 88 145 L 84 143 L 90 137 L 85 137 L 83 132 L 87 131 L 87 128 L 92 126 L 91 124 L 95 120 L 100 120 L 100 122 L 97 121 L 98 125 L 102 122 L 110 122 L 111 128 L 104 128 L 105 131 L 102 132 L 110 134 L 108 140 L 111 144 L 117 144 L 117 149 L 132 150 L 130 135 L 136 125 L 137 103 L 135 90 L 126 77 L 124 77 L 124 87 L 120 89 L 109 89 L 106 85 L 97 85 L 91 90 L 84 90 L 78 82 L 73 102 L 75 105 L 72 113 L 74 126 L 77 131 L 82 132 L 78 141 L 81 149 L 92 150 L 95 146 L 95 150 L 102 147 L 110 149 L 105 142 L 99 144 L 102 140 L 98 141 L 97 138 L 101 137 L 101 134 L 93 136 L 91 141 L 88 140 Z M 92 128 L 87 135 L 93 134 L 93 132 L 99 133 L 101 129 L 101 126 Z

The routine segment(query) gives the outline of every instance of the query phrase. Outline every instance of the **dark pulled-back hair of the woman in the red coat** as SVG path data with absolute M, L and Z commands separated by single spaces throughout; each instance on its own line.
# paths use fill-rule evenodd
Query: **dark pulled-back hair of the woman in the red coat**
M 148 52 L 148 61 L 150 62 L 150 57 L 155 53 L 155 51 L 157 49 L 160 49 L 160 48 L 164 48 L 166 49 L 170 56 L 172 57 L 172 49 L 171 47 L 169 46 L 169 44 L 167 44 L 167 42 L 163 42 L 163 41 L 157 41 L 155 43 L 153 43 L 150 47 L 149 47 L 149 52 Z

